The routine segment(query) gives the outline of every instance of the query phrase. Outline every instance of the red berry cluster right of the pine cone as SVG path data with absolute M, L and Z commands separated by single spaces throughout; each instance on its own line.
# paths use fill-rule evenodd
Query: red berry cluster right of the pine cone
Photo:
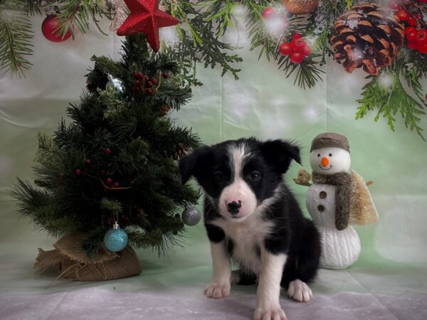
M 427 0 L 418 0 L 418 2 L 427 2 Z M 418 53 L 427 53 L 427 29 L 421 27 L 420 16 L 409 13 L 394 0 L 389 2 L 389 7 L 397 10 L 396 16 L 406 26 L 405 38 L 408 48 L 417 50 Z

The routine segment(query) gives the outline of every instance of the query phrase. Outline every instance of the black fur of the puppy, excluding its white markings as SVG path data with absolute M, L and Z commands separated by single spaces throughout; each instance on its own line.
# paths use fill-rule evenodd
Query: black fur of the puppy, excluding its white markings
M 218 200 L 223 189 L 233 183 L 234 168 L 230 150 L 238 146 L 244 146 L 247 154 L 242 164 L 241 178 L 254 193 L 257 207 L 267 199 L 270 202 L 268 208 L 260 213 L 262 220 L 273 222 L 273 228 L 265 236 L 263 246 L 275 255 L 288 255 L 281 284 L 288 287 L 295 279 L 311 282 L 319 267 L 320 235 L 312 221 L 303 217 L 295 197 L 283 182 L 283 174 L 288 171 L 292 159 L 300 163 L 300 149 L 289 142 L 239 139 L 204 146 L 181 159 L 179 169 L 183 183 L 194 176 L 206 192 L 204 223 L 209 240 L 221 242 L 226 239 L 230 256 L 235 258 L 232 235 L 227 235 L 212 222 L 216 219 L 226 220 L 219 211 Z M 253 254 L 260 256 L 259 246 L 255 245 L 248 250 L 253 250 Z M 253 270 L 242 270 L 245 272 L 241 274 L 241 284 L 255 282 Z

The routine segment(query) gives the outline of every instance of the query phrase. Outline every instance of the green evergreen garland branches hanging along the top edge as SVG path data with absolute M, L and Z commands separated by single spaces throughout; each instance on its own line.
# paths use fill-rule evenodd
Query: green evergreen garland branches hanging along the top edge
M 354 4 L 369 2 L 386 6 L 388 1 L 352 1 L 352 0 L 322 0 L 319 8 L 311 14 L 295 16 L 287 14 L 288 26 L 279 36 L 273 36 L 265 29 L 262 16 L 268 7 L 282 9 L 280 0 L 159 0 L 164 9 L 172 16 L 179 18 L 181 23 L 176 26 L 179 43 L 176 46 L 162 44 L 162 50 L 176 60 L 182 67 L 182 80 L 201 85 L 196 78 L 196 65 L 201 63 L 205 68 L 222 69 L 222 74 L 231 73 L 238 79 L 238 63 L 242 58 L 233 53 L 233 46 L 221 38 L 232 25 L 242 28 L 236 21 L 233 12 L 236 6 L 246 7 L 246 28 L 251 40 L 251 50 L 258 50 L 259 58 L 275 60 L 278 68 L 283 70 L 285 77 L 295 76 L 295 85 L 310 89 L 322 80 L 322 65 L 328 56 L 333 55 L 330 43 L 334 36 L 334 21 L 344 11 Z M 407 9 L 413 9 L 420 16 L 420 23 L 427 28 L 427 4 L 417 3 L 416 0 L 396 3 Z M 6 14 L 0 15 L 0 28 L 6 32 L 0 33 L 0 64 L 2 68 L 12 73 L 23 75 L 31 68 L 28 55 L 32 53 L 32 30 L 29 16 L 39 14 L 48 6 L 58 6 L 62 21 L 60 33 L 65 34 L 70 26 L 85 33 L 90 22 L 98 26 L 102 17 L 112 18 L 110 1 L 102 0 L 0 0 L 0 9 Z M 13 11 L 11 9 L 18 9 Z M 424 19 L 424 20 L 423 20 Z M 73 30 L 73 29 L 72 29 Z M 102 32 L 102 31 L 101 31 Z M 312 38 L 312 53 L 302 63 L 291 63 L 289 56 L 278 53 L 281 41 L 290 41 L 292 33 L 301 33 L 305 38 Z M 376 119 L 384 115 L 389 126 L 394 129 L 395 115 L 401 114 L 406 127 L 416 131 L 422 138 L 421 119 L 427 107 L 425 92 L 421 88 L 421 80 L 426 78 L 426 54 L 406 52 L 399 49 L 397 58 L 392 66 L 386 68 L 383 74 L 393 78 L 393 88 L 401 95 L 393 94 L 394 90 L 381 86 L 379 76 L 368 76 L 367 85 L 362 88 L 362 98 L 356 119 L 364 117 L 367 112 L 378 110 Z M 426 91 L 426 90 L 424 90 Z M 424 138 L 423 138 L 424 139 Z

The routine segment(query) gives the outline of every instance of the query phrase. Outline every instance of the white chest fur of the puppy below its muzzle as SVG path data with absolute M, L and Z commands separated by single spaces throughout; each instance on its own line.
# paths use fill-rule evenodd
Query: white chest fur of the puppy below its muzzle
M 264 245 L 265 237 L 270 233 L 272 223 L 251 217 L 241 223 L 227 220 L 216 220 L 214 224 L 224 230 L 226 238 L 232 242 L 231 258 L 255 274 L 260 271 L 260 250 Z

